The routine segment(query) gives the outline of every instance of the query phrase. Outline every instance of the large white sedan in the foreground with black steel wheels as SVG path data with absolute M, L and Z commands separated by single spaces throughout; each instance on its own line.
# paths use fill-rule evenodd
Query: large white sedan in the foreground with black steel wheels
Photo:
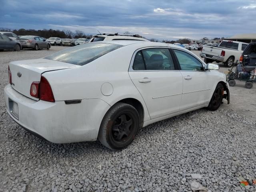
M 172 44 L 93 42 L 10 62 L 8 114 L 54 143 L 95 141 L 120 150 L 139 128 L 230 101 L 226 76 Z

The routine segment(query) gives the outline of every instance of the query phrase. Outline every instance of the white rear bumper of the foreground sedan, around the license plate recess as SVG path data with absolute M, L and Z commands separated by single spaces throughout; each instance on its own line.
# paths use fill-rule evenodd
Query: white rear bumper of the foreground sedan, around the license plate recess
M 11 118 L 29 132 L 53 143 L 94 141 L 101 121 L 110 106 L 100 99 L 84 99 L 80 104 L 64 101 L 35 101 L 14 90 L 4 88 L 6 110 Z M 18 119 L 9 109 L 9 101 L 18 104 Z

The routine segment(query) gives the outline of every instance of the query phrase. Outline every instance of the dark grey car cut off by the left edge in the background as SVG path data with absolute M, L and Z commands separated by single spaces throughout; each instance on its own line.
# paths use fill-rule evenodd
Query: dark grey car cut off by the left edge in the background
M 0 34 L 0 51 L 5 49 L 19 51 L 21 48 L 20 42 Z

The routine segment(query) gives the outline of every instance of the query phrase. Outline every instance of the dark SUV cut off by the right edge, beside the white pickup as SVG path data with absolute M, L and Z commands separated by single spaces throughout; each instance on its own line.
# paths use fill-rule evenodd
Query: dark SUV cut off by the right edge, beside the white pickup
M 256 42 L 249 43 L 246 46 L 239 61 L 248 72 L 256 68 Z

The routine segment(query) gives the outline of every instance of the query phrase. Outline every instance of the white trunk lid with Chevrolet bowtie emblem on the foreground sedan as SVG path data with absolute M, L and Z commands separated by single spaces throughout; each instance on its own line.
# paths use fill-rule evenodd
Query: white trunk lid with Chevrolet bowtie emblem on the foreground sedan
M 35 59 L 10 62 L 9 67 L 12 73 L 12 88 L 28 98 L 39 100 L 30 95 L 30 86 L 32 82 L 40 82 L 42 73 L 80 66 L 54 60 Z

